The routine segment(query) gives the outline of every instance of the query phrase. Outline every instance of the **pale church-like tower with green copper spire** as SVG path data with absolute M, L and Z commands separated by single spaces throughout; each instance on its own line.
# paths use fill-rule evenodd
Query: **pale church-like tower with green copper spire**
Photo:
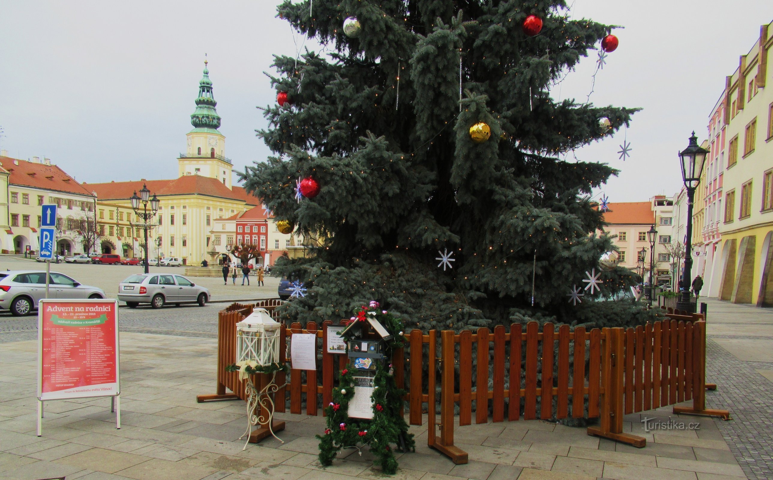
M 226 137 L 220 128 L 220 115 L 215 109 L 217 102 L 212 93 L 212 80 L 209 80 L 207 60 L 204 60 L 204 76 L 199 81 L 199 97 L 196 98 L 196 110 L 191 115 L 193 130 L 186 135 L 188 147 L 185 154 L 177 159 L 179 175 L 203 175 L 223 182 L 231 188 L 233 165 L 226 158 Z

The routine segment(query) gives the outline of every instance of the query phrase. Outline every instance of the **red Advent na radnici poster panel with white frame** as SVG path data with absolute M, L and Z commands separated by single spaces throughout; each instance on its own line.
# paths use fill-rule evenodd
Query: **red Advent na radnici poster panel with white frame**
M 120 393 L 118 305 L 114 300 L 41 300 L 39 400 Z

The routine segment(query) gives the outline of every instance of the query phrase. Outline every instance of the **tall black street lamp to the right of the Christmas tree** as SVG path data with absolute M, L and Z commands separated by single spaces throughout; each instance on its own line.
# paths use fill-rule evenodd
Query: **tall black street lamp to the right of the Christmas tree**
M 684 271 L 680 289 L 681 301 L 676 302 L 676 308 L 695 313 L 696 305 L 690 301 L 690 281 L 693 276 L 693 196 L 695 189 L 700 184 L 700 176 L 703 174 L 703 164 L 709 151 L 698 146 L 698 138 L 690 137 L 690 145 L 679 152 L 679 160 L 682 163 L 682 180 L 687 189 L 687 239 L 684 248 Z

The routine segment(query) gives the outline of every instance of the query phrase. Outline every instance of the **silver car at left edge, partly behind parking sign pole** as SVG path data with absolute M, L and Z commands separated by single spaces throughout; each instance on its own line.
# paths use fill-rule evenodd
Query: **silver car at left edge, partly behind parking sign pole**
M 0 272 L 0 310 L 28 315 L 46 298 L 46 272 L 39 270 Z M 81 285 L 65 274 L 51 272 L 49 298 L 105 298 L 101 288 Z

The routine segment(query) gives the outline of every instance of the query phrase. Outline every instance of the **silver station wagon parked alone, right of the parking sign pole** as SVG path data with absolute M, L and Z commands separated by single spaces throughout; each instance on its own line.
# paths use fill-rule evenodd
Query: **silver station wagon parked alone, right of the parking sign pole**
M 118 300 L 125 301 L 129 308 L 149 303 L 153 308 L 162 308 L 167 303 L 198 303 L 206 305 L 209 290 L 175 274 L 131 275 L 118 285 Z

